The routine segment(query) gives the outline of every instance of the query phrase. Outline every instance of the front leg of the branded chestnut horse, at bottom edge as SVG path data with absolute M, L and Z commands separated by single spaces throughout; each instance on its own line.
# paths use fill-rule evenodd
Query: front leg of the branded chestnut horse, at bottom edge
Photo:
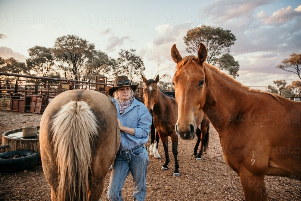
M 268 200 L 264 183 L 264 174 L 262 176 L 254 176 L 249 171 L 244 170 L 243 172 L 240 171 L 239 175 L 246 201 Z

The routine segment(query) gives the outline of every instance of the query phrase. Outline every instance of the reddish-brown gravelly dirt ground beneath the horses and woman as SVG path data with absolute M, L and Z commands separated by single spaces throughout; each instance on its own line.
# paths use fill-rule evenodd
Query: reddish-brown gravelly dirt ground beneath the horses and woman
M 0 110 L 0 133 L 24 126 L 38 126 L 41 116 Z M 161 159 L 149 156 L 145 200 L 244 200 L 238 175 L 228 167 L 222 157 L 222 148 L 216 130 L 210 126 L 208 153 L 202 161 L 196 161 L 193 157 L 195 143 L 196 139 L 179 140 L 178 160 L 181 175 L 176 178 L 172 177 L 174 158 L 171 149 L 169 169 L 160 171 L 165 162 L 165 155 L 162 143 L 159 143 L 158 152 Z M 2 140 L 0 144 L 2 145 Z M 150 140 L 146 146 L 150 146 Z M 171 148 L 170 142 L 169 147 Z M 109 171 L 105 180 L 103 200 L 108 200 L 106 192 L 110 174 Z M 265 185 L 269 200 L 301 200 L 300 181 L 266 176 Z M 123 187 L 123 199 L 133 200 L 132 193 L 133 182 L 130 174 Z M 7 200 L 51 200 L 50 187 L 43 174 L 40 160 L 36 167 L 26 172 L 0 174 L 0 201 Z

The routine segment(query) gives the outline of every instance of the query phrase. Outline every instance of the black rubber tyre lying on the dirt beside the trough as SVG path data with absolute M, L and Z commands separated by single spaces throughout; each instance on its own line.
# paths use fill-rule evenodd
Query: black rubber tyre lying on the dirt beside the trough
M 17 159 L 5 159 L 13 155 L 25 155 Z M 35 167 L 39 162 L 36 152 L 27 150 L 0 153 L 0 173 L 18 172 Z

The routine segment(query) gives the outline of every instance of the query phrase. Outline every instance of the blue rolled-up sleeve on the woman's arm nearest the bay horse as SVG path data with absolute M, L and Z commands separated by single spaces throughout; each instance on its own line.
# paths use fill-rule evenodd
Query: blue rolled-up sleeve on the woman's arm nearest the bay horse
M 145 138 L 148 137 L 148 133 L 151 131 L 152 116 L 149 111 L 145 108 L 140 108 L 138 117 L 138 127 L 135 128 L 135 137 Z

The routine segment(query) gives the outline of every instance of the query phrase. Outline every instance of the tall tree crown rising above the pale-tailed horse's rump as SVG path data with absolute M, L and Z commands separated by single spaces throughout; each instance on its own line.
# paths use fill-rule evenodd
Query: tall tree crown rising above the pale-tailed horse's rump
M 54 57 L 61 62 L 66 79 L 79 80 L 82 66 L 95 53 L 95 45 L 75 35 L 58 37 L 52 49 Z

